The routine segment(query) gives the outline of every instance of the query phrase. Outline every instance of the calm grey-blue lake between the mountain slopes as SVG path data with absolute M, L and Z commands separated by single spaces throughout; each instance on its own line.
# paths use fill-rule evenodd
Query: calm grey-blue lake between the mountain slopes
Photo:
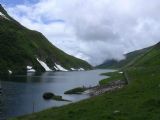
M 75 87 L 95 86 L 101 79 L 106 78 L 101 76 L 101 73 L 111 71 L 113 70 L 46 72 L 40 75 L 28 73 L 28 75 L 17 75 L 9 81 L 3 80 L 4 114 L 7 117 L 15 117 L 70 103 L 44 100 L 42 96 L 45 92 L 53 92 L 72 102 L 89 98 L 87 93 L 65 95 L 64 92 Z

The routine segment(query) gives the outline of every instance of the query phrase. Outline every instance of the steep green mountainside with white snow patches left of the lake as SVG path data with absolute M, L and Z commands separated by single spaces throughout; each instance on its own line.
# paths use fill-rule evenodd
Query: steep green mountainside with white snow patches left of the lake
M 91 68 L 52 45 L 40 32 L 22 26 L 0 5 L 0 74 Z

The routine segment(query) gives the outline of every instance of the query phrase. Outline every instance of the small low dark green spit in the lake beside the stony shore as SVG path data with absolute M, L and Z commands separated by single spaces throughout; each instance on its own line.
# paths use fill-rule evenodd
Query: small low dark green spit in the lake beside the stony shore
M 64 92 L 64 94 L 81 94 L 85 90 L 87 90 L 87 88 L 85 88 L 85 87 L 77 87 L 77 88 L 73 88 L 71 90 L 68 90 L 68 91 Z

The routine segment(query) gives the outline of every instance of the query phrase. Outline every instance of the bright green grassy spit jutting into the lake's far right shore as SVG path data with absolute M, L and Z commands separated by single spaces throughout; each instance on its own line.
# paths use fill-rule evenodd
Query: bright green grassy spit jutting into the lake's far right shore
M 109 82 L 114 81 L 114 80 L 124 80 L 125 79 L 124 75 L 119 72 L 109 72 L 109 73 L 103 73 L 101 75 L 106 75 L 109 77 L 99 81 L 100 85 L 108 84 Z

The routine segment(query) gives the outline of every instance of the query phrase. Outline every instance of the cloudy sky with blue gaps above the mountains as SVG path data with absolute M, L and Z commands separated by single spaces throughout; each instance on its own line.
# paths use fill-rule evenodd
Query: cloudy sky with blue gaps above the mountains
M 2 0 L 24 26 L 93 65 L 160 41 L 160 0 Z

